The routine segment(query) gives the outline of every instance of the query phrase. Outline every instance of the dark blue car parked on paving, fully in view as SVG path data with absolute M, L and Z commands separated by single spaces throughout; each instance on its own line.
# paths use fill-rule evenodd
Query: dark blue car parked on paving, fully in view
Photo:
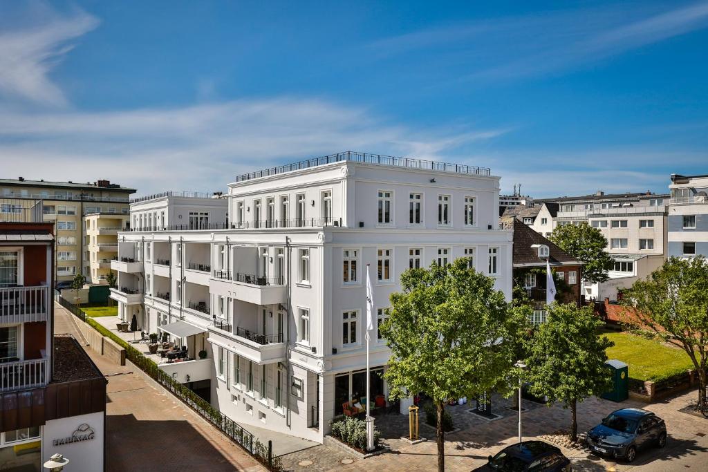
M 666 446 L 666 424 L 640 408 L 613 411 L 588 431 L 588 446 L 595 454 L 632 462 L 639 449 Z

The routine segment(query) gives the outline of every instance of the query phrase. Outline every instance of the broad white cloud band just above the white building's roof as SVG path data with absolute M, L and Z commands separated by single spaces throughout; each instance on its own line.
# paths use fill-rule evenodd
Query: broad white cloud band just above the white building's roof
M 350 149 L 446 159 L 505 132 L 414 129 L 365 108 L 312 98 L 105 113 L 4 112 L 0 161 L 5 175 L 25 178 L 108 178 L 141 192 L 210 190 L 224 188 L 238 173 Z

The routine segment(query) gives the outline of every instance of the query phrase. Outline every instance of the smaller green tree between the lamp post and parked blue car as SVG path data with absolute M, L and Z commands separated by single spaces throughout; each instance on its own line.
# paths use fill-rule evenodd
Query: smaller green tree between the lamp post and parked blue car
M 607 347 L 614 343 L 598 336 L 602 321 L 590 306 L 572 304 L 547 306 L 546 323 L 527 338 L 529 390 L 562 402 L 571 409 L 571 440 L 578 440 L 577 404 L 610 387 L 610 369 L 605 365 Z

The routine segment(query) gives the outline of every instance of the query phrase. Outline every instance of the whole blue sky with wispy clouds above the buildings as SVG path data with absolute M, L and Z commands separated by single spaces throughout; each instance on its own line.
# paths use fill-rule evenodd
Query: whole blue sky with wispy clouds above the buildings
M 708 1 L 0 0 L 0 177 L 225 190 L 365 151 L 534 197 L 708 173 Z

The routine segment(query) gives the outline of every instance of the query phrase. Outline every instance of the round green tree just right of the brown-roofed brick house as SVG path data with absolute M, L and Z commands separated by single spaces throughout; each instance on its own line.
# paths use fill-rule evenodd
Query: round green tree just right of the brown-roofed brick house
M 599 229 L 591 227 L 585 221 L 577 226 L 556 226 L 549 240 L 573 258 L 585 263 L 583 280 L 591 283 L 607 280 L 607 271 L 612 269 L 614 262 L 605 251 L 607 238 Z

